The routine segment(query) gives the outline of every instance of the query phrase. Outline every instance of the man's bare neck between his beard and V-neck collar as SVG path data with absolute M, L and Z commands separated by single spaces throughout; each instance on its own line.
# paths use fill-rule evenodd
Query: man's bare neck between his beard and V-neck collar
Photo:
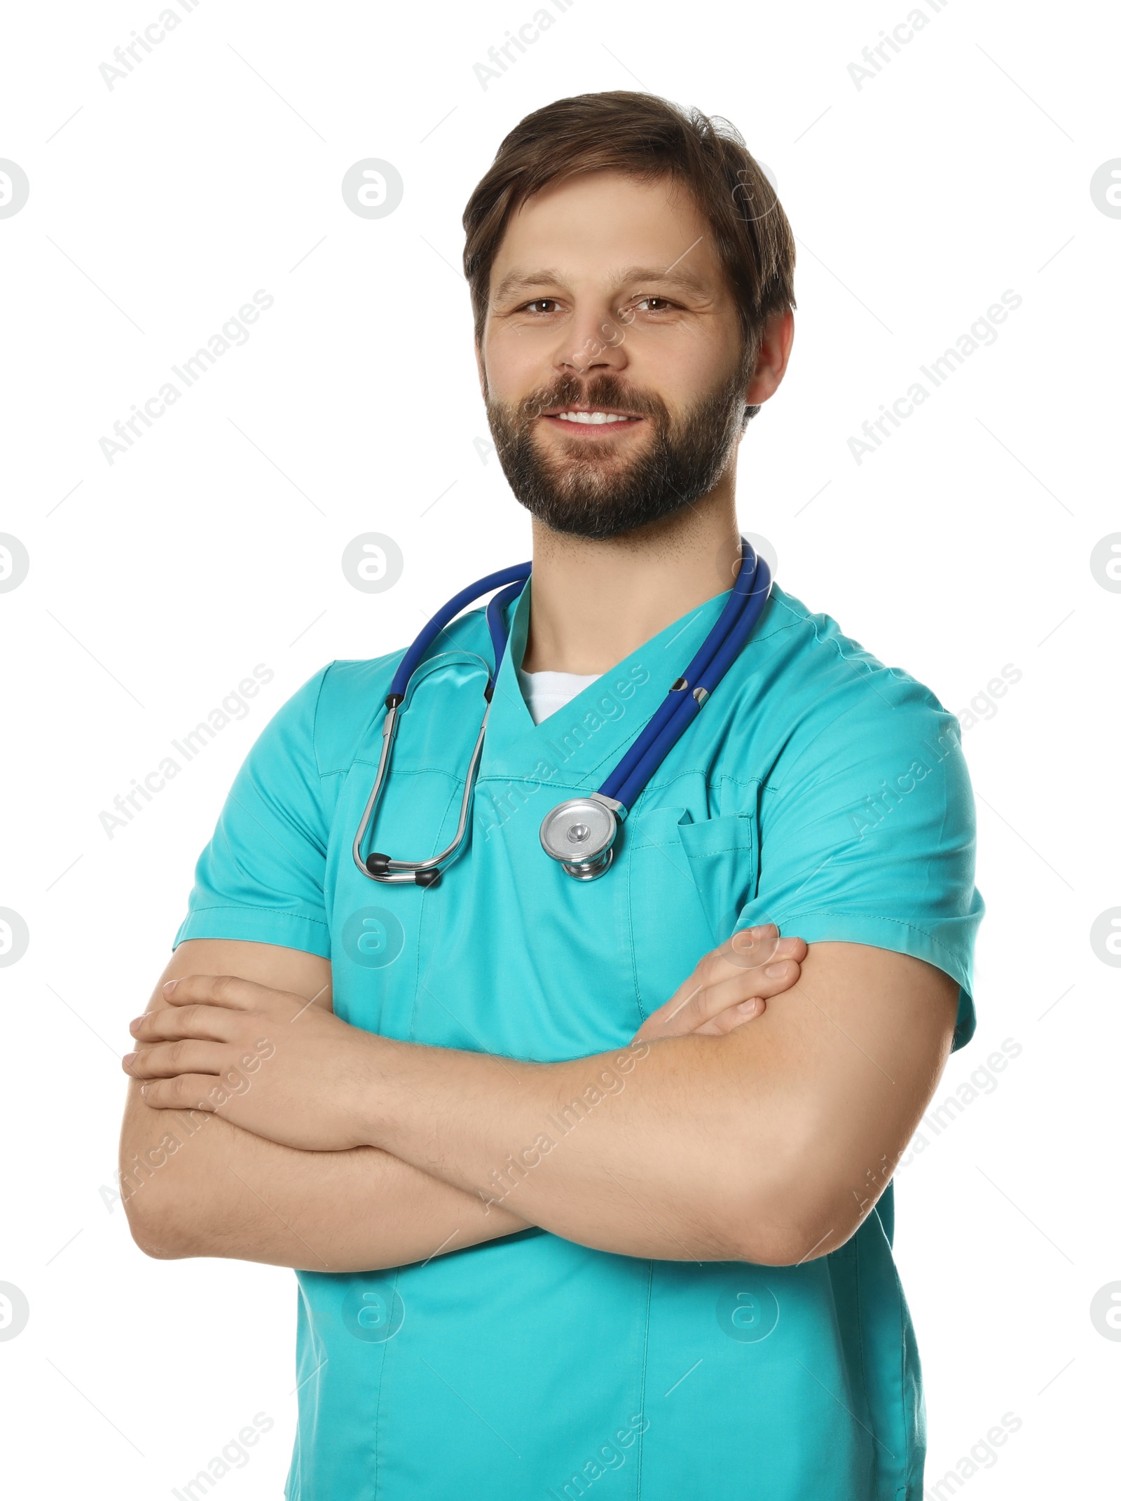
M 533 524 L 533 594 L 522 668 L 606 672 L 732 585 L 738 543 L 731 485 L 606 542 Z

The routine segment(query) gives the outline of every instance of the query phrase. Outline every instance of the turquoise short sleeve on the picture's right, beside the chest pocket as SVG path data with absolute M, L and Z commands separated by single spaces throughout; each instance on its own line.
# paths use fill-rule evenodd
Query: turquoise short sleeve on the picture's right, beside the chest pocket
M 759 880 L 738 928 L 909 953 L 959 986 L 953 1046 L 975 1028 L 975 817 L 960 728 L 921 684 L 827 695 L 759 794 Z

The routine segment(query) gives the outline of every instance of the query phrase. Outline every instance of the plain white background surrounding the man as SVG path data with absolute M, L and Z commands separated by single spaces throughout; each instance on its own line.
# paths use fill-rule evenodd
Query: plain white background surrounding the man
M 294 1427 L 291 1273 L 146 1259 L 113 1204 L 126 1024 L 194 862 L 267 717 L 333 657 L 411 639 L 464 581 L 528 555 L 486 435 L 456 270 L 464 203 L 503 135 L 555 98 L 645 87 L 744 134 L 798 239 L 789 375 L 740 458 L 740 519 L 779 579 L 962 711 L 978 809 L 978 1031 L 938 1099 L 1004 1039 L 1022 1054 L 897 1174 L 897 1259 L 926 1372 L 927 1480 L 1002 1414 L 1022 1427 L 969 1501 L 1113 1493 L 1121 1342 L 1118 971 L 1121 156 L 1116 12 L 950 0 L 857 89 L 908 0 L 686 8 L 576 0 L 483 89 L 473 65 L 536 0 L 428 8 L 201 0 L 108 89 L 149 3 L 9 8 L 0 156 L 3 512 L 30 573 L 0 594 L 9 725 L 0 907 L 6 1150 L 0 1342 L 18 1495 L 155 1498 L 257 1412 L 275 1427 L 222 1501 L 278 1496 Z M 362 158 L 401 207 L 356 216 Z M 99 438 L 258 288 L 252 327 L 110 465 Z M 848 440 L 1013 290 L 1023 300 L 864 462 Z M 342 575 L 362 531 L 401 582 Z M 275 680 L 134 821 L 99 814 L 255 663 Z M 986 711 L 987 713 L 987 711 Z

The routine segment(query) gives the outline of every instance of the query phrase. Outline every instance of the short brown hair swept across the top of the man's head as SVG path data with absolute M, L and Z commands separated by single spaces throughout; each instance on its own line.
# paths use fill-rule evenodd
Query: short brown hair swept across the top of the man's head
M 482 344 L 491 267 L 510 218 L 548 183 L 603 170 L 672 177 L 692 192 L 711 225 L 753 365 L 764 323 L 795 306 L 794 234 L 782 204 L 728 120 L 629 90 L 557 99 L 527 114 L 498 147 L 464 210 L 476 339 Z

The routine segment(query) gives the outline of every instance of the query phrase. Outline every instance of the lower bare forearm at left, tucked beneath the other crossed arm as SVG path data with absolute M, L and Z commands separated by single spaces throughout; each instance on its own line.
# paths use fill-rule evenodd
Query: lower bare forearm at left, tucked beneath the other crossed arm
M 378 1148 L 297 1151 L 221 1115 L 152 1111 L 140 1099 L 120 1166 L 134 1238 L 153 1256 L 372 1271 L 525 1228 Z

